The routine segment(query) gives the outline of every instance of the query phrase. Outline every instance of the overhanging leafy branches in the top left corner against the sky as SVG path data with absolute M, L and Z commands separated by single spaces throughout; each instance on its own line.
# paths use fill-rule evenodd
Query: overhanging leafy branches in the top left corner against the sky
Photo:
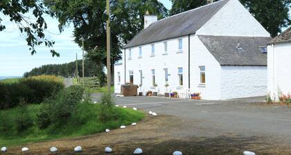
M 17 25 L 19 31 L 26 36 L 26 42 L 30 46 L 29 50 L 32 55 L 36 53 L 35 46 L 44 44 L 48 48 L 51 48 L 53 56 L 60 56 L 59 53 L 53 50 L 53 44 L 55 42 L 46 39 L 44 35 L 44 30 L 46 30 L 47 25 L 43 15 L 49 14 L 50 12 L 44 7 L 43 1 L 1 0 L 0 12 L 4 15 L 0 17 L 0 31 L 6 29 L 6 25 L 1 21 L 3 21 L 3 18 L 8 17 L 11 22 Z M 30 13 L 36 18 L 35 21 L 30 21 L 30 17 L 26 17 Z

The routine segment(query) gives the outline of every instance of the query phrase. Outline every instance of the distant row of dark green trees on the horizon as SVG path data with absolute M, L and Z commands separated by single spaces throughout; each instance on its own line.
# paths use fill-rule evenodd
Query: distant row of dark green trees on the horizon
M 103 65 L 96 64 L 93 61 L 85 60 L 85 77 L 96 76 L 100 80 L 105 80 L 105 73 L 103 71 Z M 24 73 L 24 77 L 28 78 L 35 75 L 57 75 L 65 78 L 75 76 L 76 72 L 76 61 L 69 62 L 65 64 L 47 64 L 35 69 L 32 69 L 29 72 Z M 79 77 L 82 77 L 82 60 L 78 60 L 78 73 Z

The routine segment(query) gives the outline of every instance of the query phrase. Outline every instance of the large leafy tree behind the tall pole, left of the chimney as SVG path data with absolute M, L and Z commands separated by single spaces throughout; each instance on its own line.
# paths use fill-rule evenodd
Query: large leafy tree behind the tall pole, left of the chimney
M 75 42 L 82 46 L 90 60 L 106 64 L 106 3 L 104 0 L 46 0 L 46 6 L 60 22 L 60 30 L 73 24 Z M 146 10 L 166 17 L 168 10 L 157 0 L 111 0 L 111 60 L 121 59 L 121 47 L 143 28 L 143 15 Z

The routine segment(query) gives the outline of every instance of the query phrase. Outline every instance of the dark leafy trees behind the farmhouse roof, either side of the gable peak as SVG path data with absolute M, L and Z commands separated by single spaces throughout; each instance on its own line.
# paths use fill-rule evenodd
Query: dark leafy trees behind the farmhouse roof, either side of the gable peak
M 170 1 L 173 2 L 170 15 L 175 15 L 206 4 L 206 0 Z M 291 0 L 240 0 L 240 2 L 254 15 L 272 37 L 281 33 L 281 28 L 290 26 L 288 12 L 291 7 Z

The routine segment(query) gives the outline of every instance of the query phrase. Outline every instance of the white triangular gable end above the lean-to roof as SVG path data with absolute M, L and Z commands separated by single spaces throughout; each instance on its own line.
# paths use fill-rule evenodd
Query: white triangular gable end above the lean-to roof
M 230 0 L 196 34 L 270 37 L 270 33 L 238 0 Z

